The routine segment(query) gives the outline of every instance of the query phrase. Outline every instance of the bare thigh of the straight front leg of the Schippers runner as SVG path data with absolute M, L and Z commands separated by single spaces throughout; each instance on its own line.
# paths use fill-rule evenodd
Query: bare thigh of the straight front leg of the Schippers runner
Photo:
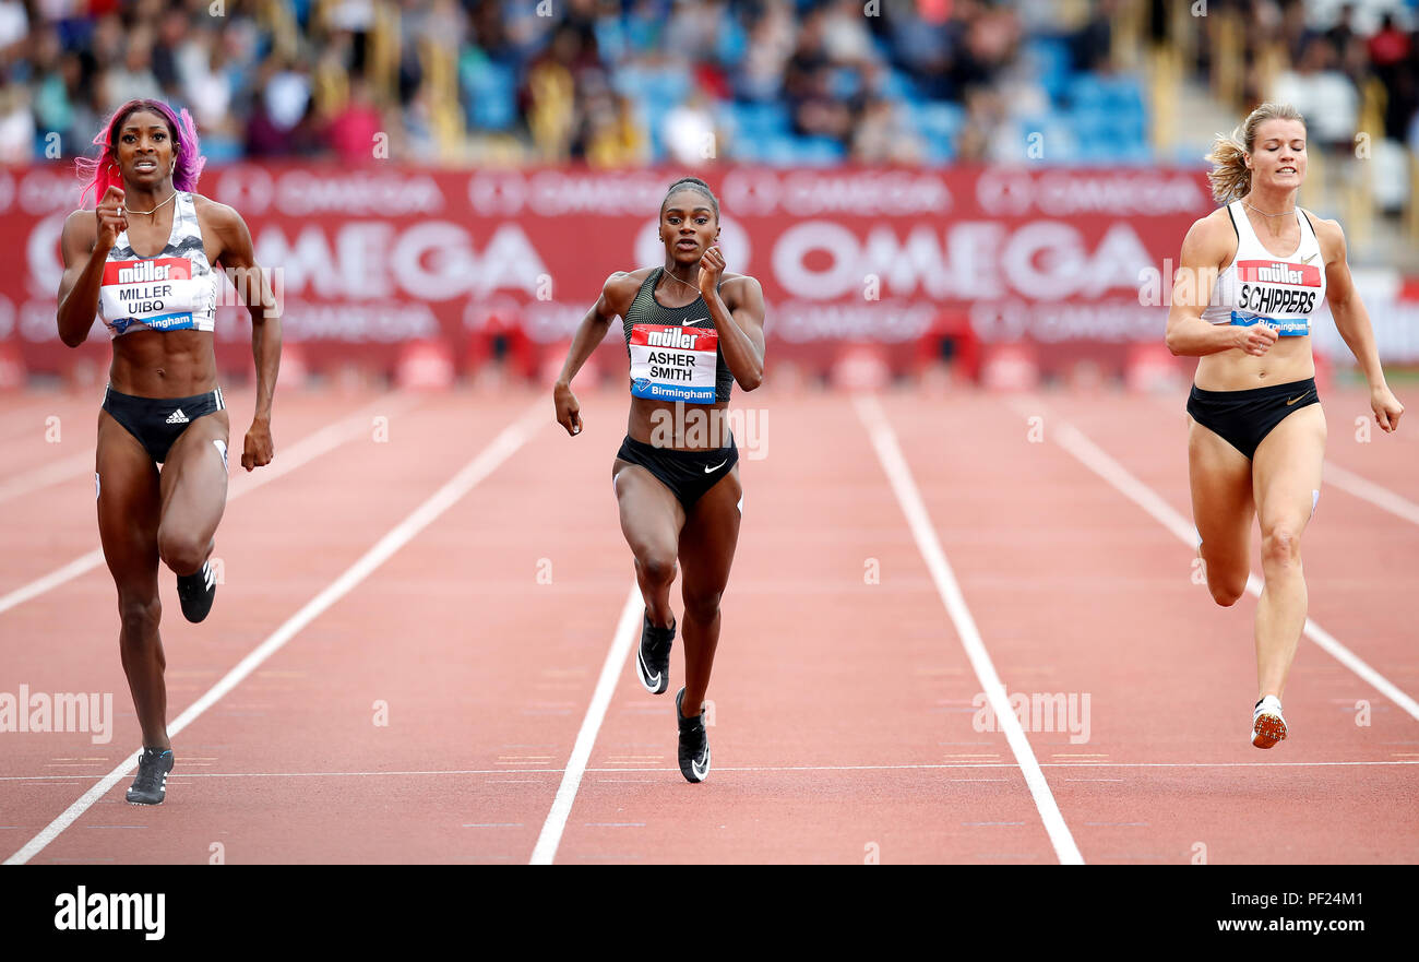
M 1287 416 L 1256 448 L 1252 463 L 1256 512 L 1261 532 L 1287 525 L 1300 535 L 1321 490 L 1325 461 L 1325 414 L 1308 404 Z

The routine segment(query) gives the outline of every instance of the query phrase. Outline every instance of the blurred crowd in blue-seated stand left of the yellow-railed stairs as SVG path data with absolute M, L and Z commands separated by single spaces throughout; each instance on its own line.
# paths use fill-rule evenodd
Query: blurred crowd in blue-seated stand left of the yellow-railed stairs
M 0 160 L 89 152 L 135 96 L 216 162 L 989 160 L 1069 96 L 1029 44 L 1050 84 L 1107 71 L 1117 3 L 0 0 Z

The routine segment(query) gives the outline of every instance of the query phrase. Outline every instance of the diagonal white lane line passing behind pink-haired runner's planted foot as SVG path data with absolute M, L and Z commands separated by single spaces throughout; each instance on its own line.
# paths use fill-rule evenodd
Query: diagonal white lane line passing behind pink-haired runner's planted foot
M 223 695 L 241 684 L 241 681 L 255 671 L 263 661 L 280 651 L 281 647 L 299 634 L 305 626 L 319 617 L 326 609 L 335 604 L 335 602 L 352 592 L 355 586 L 389 560 L 394 552 L 413 541 L 419 532 L 437 521 L 440 515 L 455 505 L 458 499 L 477 487 L 480 481 L 492 474 L 492 471 L 507 461 L 518 448 L 521 448 L 543 423 L 546 423 L 546 404 L 545 402 L 538 400 L 536 404 L 529 407 L 528 411 L 522 414 L 522 417 L 511 426 L 502 429 L 502 431 L 499 431 L 498 436 L 492 438 L 492 441 L 488 443 L 488 446 L 484 447 L 477 457 L 465 464 L 455 475 L 453 475 L 453 478 L 446 481 L 441 488 L 429 495 L 421 505 L 414 508 L 413 512 L 394 525 L 389 533 L 375 542 L 375 546 L 365 552 L 359 560 L 350 565 L 343 575 L 336 577 L 329 586 L 325 587 L 325 590 L 307 602 L 299 612 L 287 619 L 287 621 L 272 631 L 265 641 L 238 661 L 236 667 L 223 675 L 217 684 L 209 688 L 201 698 L 189 705 L 187 711 L 179 715 L 177 721 L 169 725 L 169 735 L 177 735 L 180 731 L 187 728 L 187 725 L 200 718 L 201 714 L 211 708 Z M 23 866 L 33 858 L 47 844 L 54 841 L 61 831 L 74 824 L 75 819 L 82 816 L 89 806 L 104 797 L 111 787 L 118 785 L 118 782 L 132 772 L 136 765 L 138 752 L 133 752 L 132 756 L 119 762 L 112 772 L 105 775 L 96 785 L 94 785 L 94 787 L 79 796 L 79 799 L 65 809 L 60 817 L 45 826 L 37 836 L 34 836 L 34 839 L 27 841 L 20 851 L 6 858 L 4 864 Z

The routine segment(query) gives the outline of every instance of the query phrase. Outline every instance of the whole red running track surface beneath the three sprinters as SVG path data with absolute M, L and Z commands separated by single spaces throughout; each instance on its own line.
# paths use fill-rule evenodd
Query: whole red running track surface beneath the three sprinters
M 236 451 L 251 402 L 234 394 Z M 175 738 L 163 806 L 125 805 L 125 778 L 34 863 L 207 861 L 214 843 L 230 863 L 528 861 L 631 585 L 609 484 L 626 402 L 583 397 L 575 440 L 542 396 L 386 402 L 387 443 L 360 430 L 228 504 L 226 583 L 206 623 L 182 620 L 162 576 L 169 718 L 529 404 L 546 419 Z M 1419 501 L 1419 426 L 1361 444 L 1362 399 L 1325 403 L 1331 461 Z M 671 697 L 622 665 L 556 860 L 1054 861 L 1005 735 L 972 725 L 981 682 L 853 402 L 765 390 L 742 404 L 768 411 L 766 457 L 742 461 L 712 773 L 683 780 Z M 6 399 L 0 485 L 91 453 L 95 407 Z M 1291 739 L 1253 749 L 1254 600 L 1215 607 L 1191 580 L 1192 552 L 1050 438 L 1069 420 L 1188 516 L 1181 397 L 890 394 L 883 407 L 1006 688 L 1090 698 L 1086 743 L 1029 732 L 1086 861 L 1188 863 L 1198 843 L 1212 863 L 1419 861 L 1419 722 L 1303 640 Z M 284 393 L 277 463 L 359 410 L 383 407 Z M 60 444 L 44 440 L 51 413 Z M 0 501 L 0 596 L 96 546 L 91 485 L 84 468 Z M 1419 694 L 1406 587 L 1419 525 L 1328 487 L 1304 552 L 1315 621 Z M 873 565 L 880 583 L 864 580 Z M 138 746 L 116 631 L 102 566 L 0 612 L 0 692 L 112 692 L 116 715 L 102 745 L 0 734 L 6 857 Z

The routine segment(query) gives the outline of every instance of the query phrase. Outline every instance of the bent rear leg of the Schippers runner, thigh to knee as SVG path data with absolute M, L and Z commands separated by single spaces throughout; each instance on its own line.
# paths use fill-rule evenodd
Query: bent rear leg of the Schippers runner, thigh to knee
M 1188 417 L 1192 519 L 1202 535 L 1202 565 L 1218 604 L 1236 604 L 1252 570 L 1252 461 Z

